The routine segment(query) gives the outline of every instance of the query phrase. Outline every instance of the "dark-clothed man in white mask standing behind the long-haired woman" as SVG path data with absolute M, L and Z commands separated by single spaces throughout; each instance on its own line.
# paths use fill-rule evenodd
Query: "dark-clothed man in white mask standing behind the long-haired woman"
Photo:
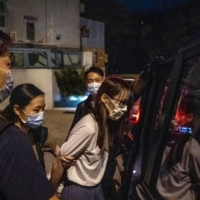
M 134 100 L 139 98 L 141 95 L 142 91 L 144 90 L 149 73 L 147 72 L 142 72 L 141 73 L 141 78 L 138 76 L 137 80 L 135 80 L 131 84 L 131 90 L 134 93 Z M 73 129 L 75 124 L 85 115 L 88 113 L 91 113 L 94 107 L 94 102 L 95 102 L 95 97 L 98 92 L 99 87 L 101 86 L 102 82 L 104 81 L 104 72 L 95 66 L 88 66 L 85 68 L 85 79 L 86 79 L 86 84 L 87 84 L 87 89 L 90 95 L 88 98 L 79 103 L 77 105 L 75 115 L 73 122 L 70 127 L 70 131 Z M 113 111 L 115 112 L 115 111 Z M 114 114 L 114 113 L 113 113 Z M 113 115 L 111 114 L 111 115 Z M 108 129 L 109 129 L 109 135 L 110 137 L 114 137 L 114 135 L 117 133 L 118 137 L 115 137 L 114 139 L 114 144 L 110 146 L 110 153 L 109 153 L 109 158 L 106 166 L 106 171 L 104 173 L 104 177 L 102 179 L 101 185 L 103 192 L 105 194 L 106 200 L 112 199 L 112 190 L 115 187 L 113 183 L 113 176 L 116 170 L 117 166 L 117 156 L 121 154 L 121 140 L 119 139 L 122 135 L 123 127 L 120 127 L 121 123 L 118 121 L 113 121 L 113 120 L 108 120 Z M 69 131 L 69 132 L 70 132 Z M 69 133 L 68 133 L 69 136 Z M 67 138 L 68 138 L 67 136 Z M 67 139 L 66 139 L 67 140 Z

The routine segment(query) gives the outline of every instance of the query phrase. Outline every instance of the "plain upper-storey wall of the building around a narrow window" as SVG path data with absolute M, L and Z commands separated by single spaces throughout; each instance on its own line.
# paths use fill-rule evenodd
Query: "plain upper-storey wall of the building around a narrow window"
M 9 0 L 8 31 L 16 31 L 18 41 L 26 41 L 26 19 L 35 20 L 35 42 L 58 47 L 80 48 L 79 0 Z M 57 40 L 56 35 L 61 39 Z M 46 40 L 47 38 L 47 40 Z

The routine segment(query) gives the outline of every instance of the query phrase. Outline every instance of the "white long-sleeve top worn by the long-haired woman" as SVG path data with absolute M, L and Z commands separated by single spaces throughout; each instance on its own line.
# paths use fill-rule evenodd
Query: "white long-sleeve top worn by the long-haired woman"
M 75 156 L 76 163 L 67 170 L 67 178 L 83 186 L 100 183 L 108 159 L 108 152 L 100 154 L 97 145 L 98 125 L 88 114 L 72 129 L 68 140 L 61 146 L 61 155 Z

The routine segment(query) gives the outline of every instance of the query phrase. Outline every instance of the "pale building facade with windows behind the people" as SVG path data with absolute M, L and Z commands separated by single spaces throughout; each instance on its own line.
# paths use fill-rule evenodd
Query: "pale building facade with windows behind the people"
M 79 0 L 0 0 L 0 29 L 13 40 L 15 86 L 38 86 L 46 93 L 46 109 L 59 99 L 55 70 L 105 67 L 104 23 L 81 18 L 83 8 Z

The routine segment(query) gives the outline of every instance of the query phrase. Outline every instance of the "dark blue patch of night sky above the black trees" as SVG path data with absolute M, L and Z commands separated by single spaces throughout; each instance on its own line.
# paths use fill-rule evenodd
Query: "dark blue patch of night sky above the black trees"
M 148 9 L 163 9 L 174 3 L 183 4 L 186 0 L 119 0 L 133 11 L 146 11 Z

